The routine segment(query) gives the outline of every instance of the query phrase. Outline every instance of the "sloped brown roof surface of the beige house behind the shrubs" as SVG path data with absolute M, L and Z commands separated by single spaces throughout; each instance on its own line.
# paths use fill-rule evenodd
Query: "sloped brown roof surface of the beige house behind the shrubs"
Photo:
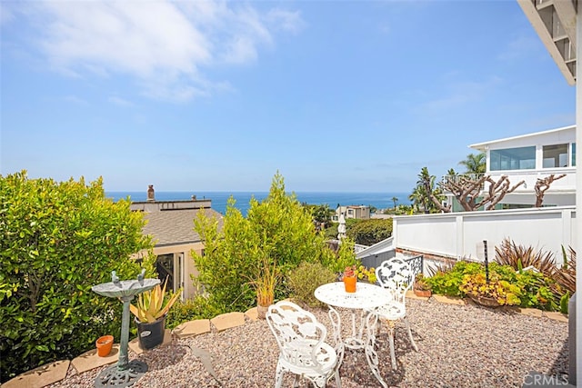
M 200 235 L 194 230 L 194 219 L 198 212 L 207 217 L 218 218 L 218 228 L 222 229 L 223 216 L 213 209 L 183 209 L 144 213 L 147 224 L 144 234 L 153 237 L 156 246 L 191 244 L 200 242 Z

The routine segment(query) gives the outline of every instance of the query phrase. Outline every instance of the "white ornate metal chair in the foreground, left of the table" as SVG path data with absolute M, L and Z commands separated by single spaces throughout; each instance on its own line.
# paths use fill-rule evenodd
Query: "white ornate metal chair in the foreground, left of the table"
M 275 334 L 279 345 L 279 359 L 276 363 L 276 388 L 283 383 L 283 374 L 305 377 L 316 387 L 326 386 L 332 376 L 336 386 L 341 388 L 336 350 L 325 343 L 326 326 L 318 323 L 313 313 L 295 303 L 281 301 L 269 306 L 266 322 Z

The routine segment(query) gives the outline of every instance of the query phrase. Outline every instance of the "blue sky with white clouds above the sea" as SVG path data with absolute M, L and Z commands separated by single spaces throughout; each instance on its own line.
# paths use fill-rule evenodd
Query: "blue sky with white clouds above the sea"
M 105 191 L 410 192 L 575 124 L 517 1 L 5 1 L 0 174 Z

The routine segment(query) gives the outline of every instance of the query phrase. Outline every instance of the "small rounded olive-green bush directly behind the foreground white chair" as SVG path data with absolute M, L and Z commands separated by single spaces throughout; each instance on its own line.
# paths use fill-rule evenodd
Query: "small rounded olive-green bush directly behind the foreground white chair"
M 336 274 L 323 264 L 302 263 L 288 274 L 288 284 L 293 295 L 301 302 L 311 307 L 324 306 L 314 295 L 321 284 L 336 281 Z

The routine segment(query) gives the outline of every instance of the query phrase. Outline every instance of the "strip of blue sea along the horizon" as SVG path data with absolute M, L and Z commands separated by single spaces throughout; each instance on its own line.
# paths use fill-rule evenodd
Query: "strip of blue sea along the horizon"
M 176 201 L 188 200 L 192 195 L 196 199 L 212 200 L 212 208 L 221 214 L 226 214 L 226 201 L 232 195 L 236 200 L 236 208 L 246 215 L 249 201 L 254 195 L 257 201 L 262 201 L 268 195 L 268 192 L 157 192 L 156 201 Z M 409 193 L 332 193 L 332 192 L 305 192 L 296 193 L 297 200 L 306 204 L 328 204 L 329 208 L 334 210 L 337 204 L 342 206 L 350 204 L 363 204 L 374 206 L 376 209 L 386 209 L 394 207 L 393 197 L 398 198 L 397 204 L 411 204 L 408 200 Z M 146 201 L 146 190 L 143 192 L 105 192 L 105 196 L 113 198 L 114 201 L 130 197 L 131 201 Z

